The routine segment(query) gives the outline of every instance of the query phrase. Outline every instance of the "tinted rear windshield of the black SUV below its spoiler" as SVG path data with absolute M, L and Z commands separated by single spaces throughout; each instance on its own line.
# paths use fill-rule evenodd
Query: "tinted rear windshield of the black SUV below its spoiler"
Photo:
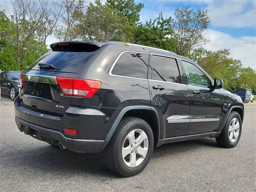
M 34 62 L 29 69 L 40 70 L 38 64 L 41 63 L 60 68 L 41 68 L 41 70 L 78 73 L 99 48 L 100 47 L 88 44 L 69 44 L 68 46 L 56 45 L 52 50 Z

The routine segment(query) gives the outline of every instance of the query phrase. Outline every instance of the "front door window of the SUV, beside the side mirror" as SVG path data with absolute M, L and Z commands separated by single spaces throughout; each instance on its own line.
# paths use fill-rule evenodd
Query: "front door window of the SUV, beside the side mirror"
M 195 65 L 182 61 L 188 84 L 192 86 L 208 88 L 212 85 L 210 79 Z

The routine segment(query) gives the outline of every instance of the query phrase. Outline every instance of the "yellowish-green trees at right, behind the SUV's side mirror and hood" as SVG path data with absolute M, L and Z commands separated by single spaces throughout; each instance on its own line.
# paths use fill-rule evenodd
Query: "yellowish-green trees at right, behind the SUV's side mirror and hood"
M 223 49 L 209 51 L 197 48 L 190 58 L 197 62 L 212 78 L 222 78 L 224 88 L 233 92 L 236 88 L 250 88 L 256 90 L 256 71 L 243 68 L 242 62 L 230 58 L 230 50 Z

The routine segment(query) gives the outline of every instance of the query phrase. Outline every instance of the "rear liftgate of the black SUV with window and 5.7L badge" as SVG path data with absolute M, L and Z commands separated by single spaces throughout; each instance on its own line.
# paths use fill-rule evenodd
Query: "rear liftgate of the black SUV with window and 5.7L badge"
M 64 91 L 68 89 L 60 86 L 60 80 L 71 80 L 69 82 L 72 86 L 72 79 L 103 45 L 76 41 L 52 44 L 52 50 L 31 64 L 21 75 L 21 105 L 24 110 L 61 118 L 70 106 L 72 88 L 70 95 L 68 91 L 65 94 Z

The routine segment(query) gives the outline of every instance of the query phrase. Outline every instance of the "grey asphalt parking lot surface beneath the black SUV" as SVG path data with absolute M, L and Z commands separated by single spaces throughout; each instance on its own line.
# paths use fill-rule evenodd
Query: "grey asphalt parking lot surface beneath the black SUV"
M 61 150 L 21 133 L 13 101 L 0 99 L 0 190 L 5 191 L 255 191 L 256 102 L 245 105 L 240 142 L 221 148 L 203 138 L 154 149 L 146 169 L 122 178 L 101 154 Z

